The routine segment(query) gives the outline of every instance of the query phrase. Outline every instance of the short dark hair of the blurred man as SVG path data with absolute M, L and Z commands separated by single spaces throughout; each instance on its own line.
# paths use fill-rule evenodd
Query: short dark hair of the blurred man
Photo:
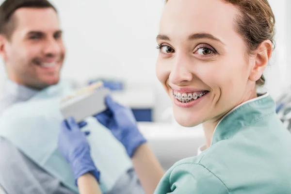
M 5 0 L 0 6 L 0 34 L 7 39 L 16 27 L 16 19 L 13 14 L 19 8 L 56 8 L 48 0 Z

